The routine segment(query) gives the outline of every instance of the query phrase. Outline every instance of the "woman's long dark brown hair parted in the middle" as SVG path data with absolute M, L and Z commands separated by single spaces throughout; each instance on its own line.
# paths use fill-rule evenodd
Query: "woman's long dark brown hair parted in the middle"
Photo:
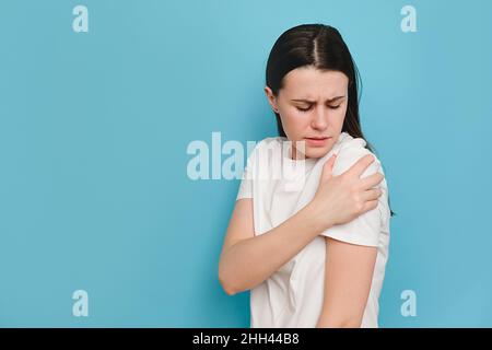
M 313 66 L 319 70 L 335 70 L 349 78 L 349 101 L 342 131 L 365 140 L 365 148 L 376 153 L 362 133 L 359 119 L 359 85 L 362 85 L 358 67 L 337 28 L 325 24 L 302 24 L 285 31 L 270 51 L 267 62 L 266 84 L 278 96 L 283 78 L 300 67 Z M 286 137 L 280 115 L 277 116 L 279 136 Z M 377 153 L 376 153 L 377 154 Z M 388 197 L 389 203 L 389 197 Z M 390 210 L 391 217 L 395 212 Z

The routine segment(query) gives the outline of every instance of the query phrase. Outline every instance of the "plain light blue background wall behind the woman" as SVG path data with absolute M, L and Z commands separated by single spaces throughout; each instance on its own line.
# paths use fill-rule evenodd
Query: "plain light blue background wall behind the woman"
M 406 4 L 417 33 L 400 30 Z M 190 180 L 186 149 L 276 136 L 268 52 L 320 22 L 361 71 L 398 213 L 380 326 L 491 327 L 491 14 L 488 0 L 2 1 L 0 326 L 248 327 L 248 292 L 216 276 L 238 180 Z M 72 315 L 79 289 L 89 317 Z

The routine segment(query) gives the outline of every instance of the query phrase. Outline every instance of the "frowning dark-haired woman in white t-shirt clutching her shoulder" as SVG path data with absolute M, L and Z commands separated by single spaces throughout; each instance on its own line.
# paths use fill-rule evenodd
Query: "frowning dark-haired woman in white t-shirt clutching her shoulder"
M 248 158 L 219 280 L 251 291 L 251 327 L 377 327 L 393 212 L 352 56 L 336 28 L 300 25 L 277 39 L 266 78 L 279 137 Z

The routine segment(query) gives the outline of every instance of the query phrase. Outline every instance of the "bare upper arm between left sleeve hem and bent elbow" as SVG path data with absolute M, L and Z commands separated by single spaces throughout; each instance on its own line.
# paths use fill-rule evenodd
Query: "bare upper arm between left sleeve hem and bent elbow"
M 222 252 L 230 248 L 239 241 L 255 236 L 253 222 L 253 199 L 242 198 L 236 200 L 227 232 L 224 238 Z

